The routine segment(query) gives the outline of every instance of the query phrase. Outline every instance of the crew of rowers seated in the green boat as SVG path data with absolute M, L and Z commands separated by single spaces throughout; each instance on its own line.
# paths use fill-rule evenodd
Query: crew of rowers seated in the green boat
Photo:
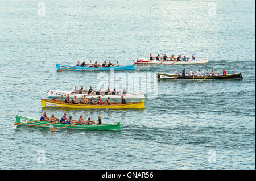
M 43 113 L 43 115 L 40 118 L 41 121 L 47 121 L 49 123 L 63 123 L 63 124 L 83 124 L 83 125 L 91 125 L 96 124 L 95 121 L 91 120 L 90 117 L 88 117 L 88 120 L 84 120 L 84 117 L 82 115 L 79 116 L 78 120 L 73 120 L 72 116 L 67 117 L 67 114 L 64 113 L 64 115 L 61 117 L 61 119 L 56 118 L 53 114 L 51 117 L 46 116 L 46 112 Z M 98 116 L 97 124 L 102 124 L 101 122 L 101 116 Z

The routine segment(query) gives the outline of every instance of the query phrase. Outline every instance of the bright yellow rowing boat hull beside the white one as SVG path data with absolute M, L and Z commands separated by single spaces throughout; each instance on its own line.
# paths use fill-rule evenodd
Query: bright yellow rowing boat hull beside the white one
M 96 101 L 97 102 L 97 101 Z M 121 104 L 120 102 L 112 102 L 112 105 L 100 104 L 66 104 L 63 100 L 50 100 L 50 99 L 41 99 L 42 107 L 65 107 L 65 108 L 75 108 L 75 109 L 142 109 L 145 108 L 144 100 L 141 102 L 126 102 L 126 104 Z

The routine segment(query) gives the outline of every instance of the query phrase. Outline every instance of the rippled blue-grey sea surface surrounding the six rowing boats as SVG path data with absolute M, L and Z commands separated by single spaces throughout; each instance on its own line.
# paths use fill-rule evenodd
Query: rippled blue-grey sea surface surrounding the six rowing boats
M 0 169 L 255 169 L 255 1 L 9 0 L 0 12 Z M 149 53 L 194 54 L 209 64 L 136 66 L 117 77 L 224 68 L 243 80 L 152 79 L 157 96 L 146 92 L 144 110 L 42 109 L 47 89 L 109 83 L 109 72 L 57 73 L 56 63 L 128 65 Z M 16 114 L 43 112 L 101 115 L 122 121 L 122 131 L 14 126 Z

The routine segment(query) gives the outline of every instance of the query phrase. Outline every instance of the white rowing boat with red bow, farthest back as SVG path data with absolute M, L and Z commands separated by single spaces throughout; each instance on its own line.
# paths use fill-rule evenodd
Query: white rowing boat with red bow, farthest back
M 149 59 L 144 59 L 144 58 L 135 58 L 134 64 L 167 64 L 167 65 L 174 65 L 174 64 L 207 64 L 209 61 L 207 58 L 196 58 L 196 60 L 149 60 Z

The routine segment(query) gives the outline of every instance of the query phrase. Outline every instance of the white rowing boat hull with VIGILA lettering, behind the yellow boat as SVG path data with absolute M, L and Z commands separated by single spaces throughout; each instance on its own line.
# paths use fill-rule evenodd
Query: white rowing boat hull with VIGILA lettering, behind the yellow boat
M 70 98 L 73 98 L 74 96 L 77 97 L 81 97 L 83 95 L 86 95 L 86 98 L 90 99 L 90 98 L 97 98 L 98 96 L 102 95 L 96 95 L 96 94 L 89 94 L 87 95 L 85 94 L 78 94 L 78 93 L 73 93 L 70 94 L 71 91 L 58 91 L 58 90 L 47 90 L 47 95 L 48 97 L 52 97 L 52 98 L 56 98 L 59 96 L 65 96 L 67 94 L 69 94 Z M 123 96 L 123 98 L 125 99 L 142 99 L 145 98 L 143 92 L 138 92 L 138 93 L 132 93 L 132 94 L 117 94 L 117 95 L 102 95 L 101 99 L 108 99 L 108 97 L 110 97 L 110 99 L 121 99 L 121 96 Z

